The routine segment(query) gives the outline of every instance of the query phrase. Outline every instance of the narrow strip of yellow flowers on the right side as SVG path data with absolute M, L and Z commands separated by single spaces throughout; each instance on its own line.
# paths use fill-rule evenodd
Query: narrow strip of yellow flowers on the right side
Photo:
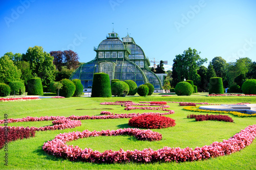
M 184 107 L 184 110 L 188 111 L 194 111 L 194 112 L 204 112 L 204 113 L 226 113 L 226 114 L 232 114 L 238 117 L 256 117 L 256 114 L 245 114 L 245 113 L 240 113 L 240 112 L 229 112 L 229 111 L 219 111 L 219 110 L 203 110 L 203 109 L 198 109 L 199 106 L 187 106 Z

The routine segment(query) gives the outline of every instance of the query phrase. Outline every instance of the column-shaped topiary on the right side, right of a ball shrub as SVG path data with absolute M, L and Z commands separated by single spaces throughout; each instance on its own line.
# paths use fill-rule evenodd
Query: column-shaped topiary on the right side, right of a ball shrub
M 224 94 L 222 78 L 220 77 L 210 78 L 209 94 L 211 93 Z

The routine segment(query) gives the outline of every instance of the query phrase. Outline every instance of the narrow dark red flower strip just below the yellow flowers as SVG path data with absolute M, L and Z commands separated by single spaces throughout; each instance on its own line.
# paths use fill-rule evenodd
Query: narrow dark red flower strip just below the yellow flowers
M 203 115 L 203 114 L 199 114 L 199 115 L 196 115 L 196 114 L 190 114 L 190 115 L 187 115 L 187 118 L 196 118 L 196 121 L 203 121 L 203 120 L 217 120 L 217 121 L 223 121 L 223 122 L 234 122 L 234 120 L 227 116 L 227 115 L 214 115 L 214 114 L 211 114 L 211 115 Z

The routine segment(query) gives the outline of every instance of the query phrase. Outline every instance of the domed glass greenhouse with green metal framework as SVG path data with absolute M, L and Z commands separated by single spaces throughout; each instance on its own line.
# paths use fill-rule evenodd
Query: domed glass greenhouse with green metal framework
M 163 80 L 161 82 L 159 77 L 151 71 L 150 60 L 129 35 L 120 40 L 117 33 L 109 33 L 98 47 L 94 47 L 94 51 L 97 53 L 96 57 L 78 67 L 70 77 L 71 80 L 80 79 L 84 91 L 91 91 L 93 74 L 96 72 L 109 74 L 110 80 L 133 80 L 138 86 L 151 83 L 155 91 L 163 89 Z M 166 74 L 161 75 L 166 76 Z

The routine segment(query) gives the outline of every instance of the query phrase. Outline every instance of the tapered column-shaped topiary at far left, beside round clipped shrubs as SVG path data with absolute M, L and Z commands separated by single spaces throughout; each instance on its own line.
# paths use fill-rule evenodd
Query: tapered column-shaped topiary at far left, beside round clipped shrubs
M 42 81 L 40 78 L 35 77 L 29 80 L 28 95 L 43 95 Z

